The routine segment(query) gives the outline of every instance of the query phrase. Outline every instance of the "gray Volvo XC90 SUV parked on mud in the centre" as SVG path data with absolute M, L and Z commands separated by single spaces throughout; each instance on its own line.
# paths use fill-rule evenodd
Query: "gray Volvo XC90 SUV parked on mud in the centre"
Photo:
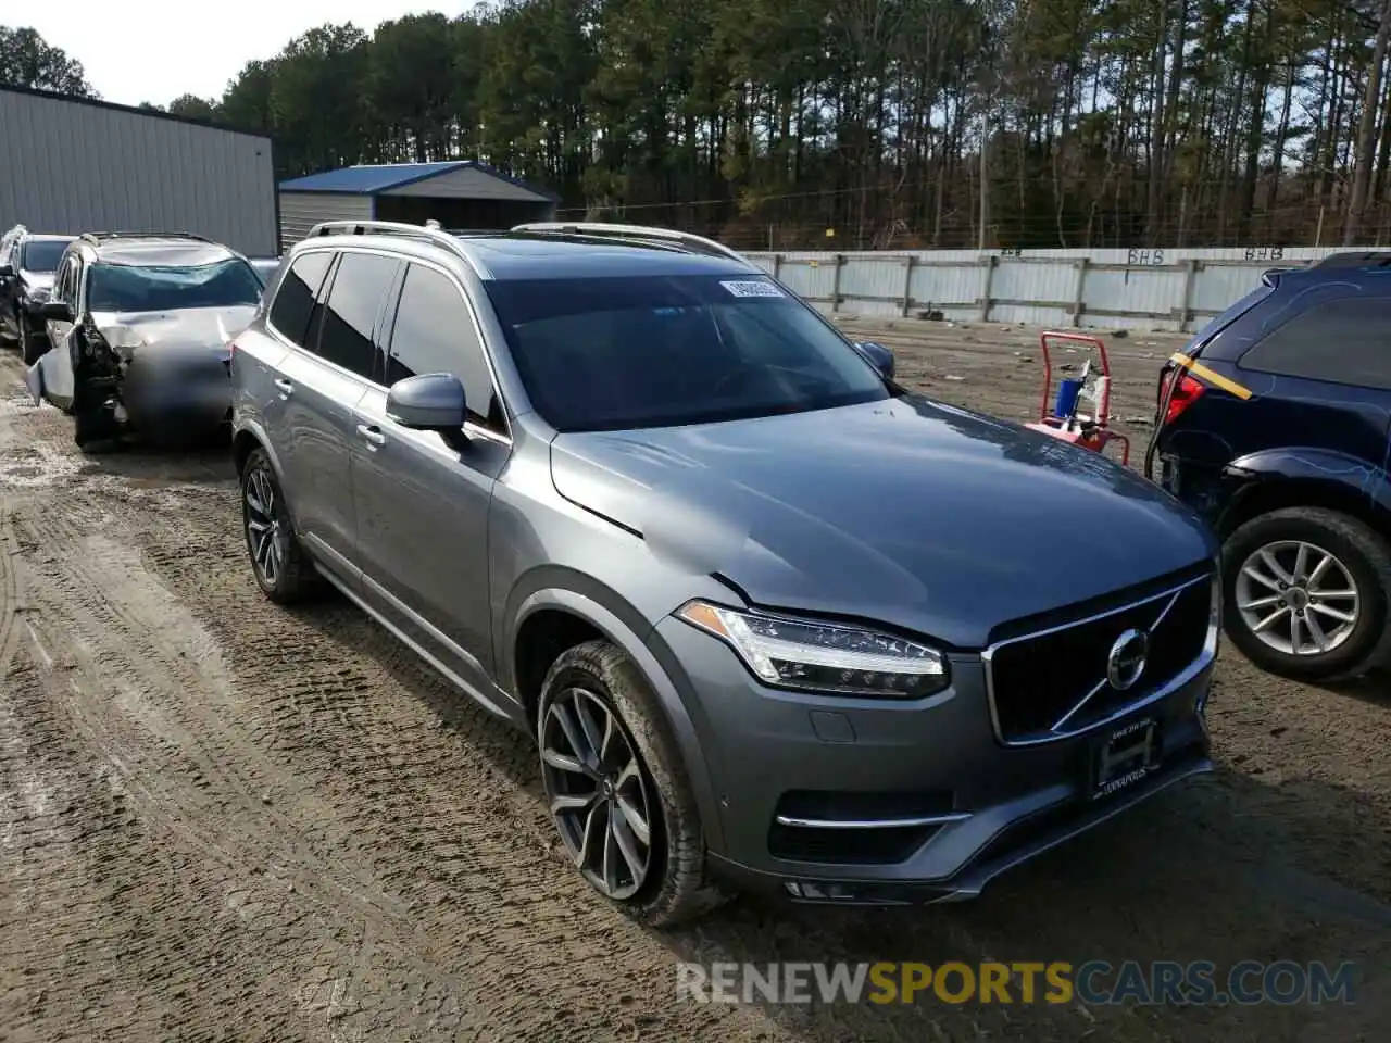
M 644 922 L 975 896 L 1210 769 L 1217 549 L 892 370 L 707 239 L 320 225 L 232 353 L 256 581 L 534 736 Z

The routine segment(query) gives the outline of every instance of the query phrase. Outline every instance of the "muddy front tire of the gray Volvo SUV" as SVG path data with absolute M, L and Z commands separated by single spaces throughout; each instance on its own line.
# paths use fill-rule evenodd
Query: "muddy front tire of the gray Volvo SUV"
M 586 826 L 594 826 L 593 836 L 609 837 L 626 827 L 630 850 L 641 851 L 641 830 L 629 826 L 630 818 L 620 815 L 620 823 L 613 825 L 609 809 L 613 801 L 602 798 L 604 786 L 590 775 L 556 766 L 555 757 L 569 757 L 573 765 L 574 745 L 558 719 L 569 711 L 569 722 L 579 726 L 574 712 L 584 706 L 591 722 L 600 722 L 601 709 L 612 720 L 608 740 L 608 763 L 598 772 L 616 777 L 618 793 L 627 794 L 627 807 L 634 807 L 634 795 L 640 793 L 647 820 L 647 864 L 643 879 L 630 872 L 630 864 L 622 857 L 620 844 L 613 840 L 611 857 L 625 884 L 609 889 L 597 882 L 598 865 L 590 871 L 580 861 L 577 841 Z M 593 731 L 594 729 L 591 729 Z M 604 729 L 598 729 L 604 734 Z M 580 736 L 581 741 L 584 736 Z M 620 741 L 622 747 L 616 743 Z M 670 928 L 701 916 L 726 900 L 707 879 L 705 834 L 701 829 L 700 812 L 691 795 L 690 783 L 682 768 L 676 744 L 668 734 L 665 720 L 655 708 L 655 697 L 637 670 L 637 666 L 619 648 L 608 641 L 590 641 L 563 652 L 547 672 L 541 686 L 541 700 L 537 711 L 537 743 L 541 758 L 541 779 L 545 784 L 547 807 L 552 822 L 561 833 L 570 861 L 580 869 L 584 879 L 625 915 L 650 928 Z M 593 745 L 602 745 L 597 743 Z M 636 754 L 637 784 L 623 768 Z M 598 800 L 587 808 L 555 811 L 558 800 L 581 800 L 593 790 Z M 598 818 L 595 818 L 598 816 Z M 634 846 L 634 840 L 638 843 Z M 604 848 L 593 848 L 602 851 Z M 630 891 L 630 893 L 629 893 Z

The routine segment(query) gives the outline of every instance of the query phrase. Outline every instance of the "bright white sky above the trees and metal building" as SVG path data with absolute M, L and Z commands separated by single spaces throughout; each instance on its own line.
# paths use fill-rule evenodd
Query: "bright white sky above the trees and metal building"
M 33 28 L 81 61 L 106 102 L 168 104 L 179 95 L 221 97 L 248 61 L 274 56 L 324 22 L 353 22 L 370 35 L 405 14 L 441 11 L 453 18 L 470 7 L 473 0 L 79 0 L 25 4 L 13 28 Z

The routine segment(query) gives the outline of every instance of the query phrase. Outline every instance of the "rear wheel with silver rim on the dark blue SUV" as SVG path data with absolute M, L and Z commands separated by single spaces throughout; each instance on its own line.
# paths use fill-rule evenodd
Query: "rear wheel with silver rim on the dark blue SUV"
M 1314 584 L 1271 585 L 1271 579 L 1309 579 L 1295 574 L 1299 545 L 1312 548 L 1308 572 L 1317 570 L 1320 558 L 1316 555 L 1331 555 L 1333 565 L 1324 567 Z M 1259 556 L 1262 551 L 1274 556 L 1284 579 L 1267 558 Z M 1257 581 L 1256 574 L 1264 581 Z M 1353 590 L 1356 598 L 1310 598 L 1306 587 Z M 1223 604 L 1227 637 L 1256 666 L 1273 674 L 1331 681 L 1365 673 L 1384 661 L 1391 648 L 1391 545 L 1366 523 L 1337 510 L 1271 510 L 1238 527 L 1223 545 Z M 1259 624 L 1277 612 L 1281 615 L 1257 633 Z M 1352 622 L 1346 619 L 1349 615 L 1355 616 Z M 1285 647 L 1294 647 L 1291 616 L 1316 620 L 1328 649 L 1313 651 L 1313 636 L 1303 622 L 1299 633 L 1306 651 L 1291 654 Z

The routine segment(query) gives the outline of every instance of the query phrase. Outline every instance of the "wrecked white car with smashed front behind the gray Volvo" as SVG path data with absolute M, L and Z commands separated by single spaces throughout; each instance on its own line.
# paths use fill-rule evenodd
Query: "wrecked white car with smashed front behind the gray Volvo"
M 198 439 L 231 419 L 231 341 L 260 305 L 250 263 L 192 235 L 88 234 L 42 306 L 53 349 L 29 367 L 35 402 L 74 417 L 79 446 L 128 432 Z

